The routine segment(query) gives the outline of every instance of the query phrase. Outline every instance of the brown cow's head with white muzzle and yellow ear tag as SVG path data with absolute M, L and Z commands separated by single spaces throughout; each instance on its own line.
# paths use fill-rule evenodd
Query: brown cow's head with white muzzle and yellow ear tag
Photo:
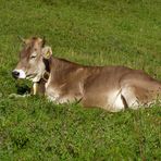
M 51 48 L 45 47 L 45 39 L 38 37 L 23 39 L 23 44 L 20 61 L 12 75 L 15 78 L 39 82 L 46 70 L 45 61 L 52 54 Z

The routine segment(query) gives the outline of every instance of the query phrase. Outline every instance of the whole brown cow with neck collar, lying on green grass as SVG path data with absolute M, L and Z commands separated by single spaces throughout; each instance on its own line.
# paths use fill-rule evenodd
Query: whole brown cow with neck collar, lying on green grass
M 111 112 L 137 109 L 159 99 L 161 83 L 143 71 L 124 66 L 85 66 L 52 57 L 41 38 L 24 40 L 15 78 L 34 83 L 34 95 L 41 89 L 55 103 L 79 101 Z

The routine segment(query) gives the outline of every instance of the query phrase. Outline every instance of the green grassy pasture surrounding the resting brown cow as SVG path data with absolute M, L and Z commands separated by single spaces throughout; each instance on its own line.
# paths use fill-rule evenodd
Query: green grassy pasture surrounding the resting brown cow
M 0 160 L 161 160 L 157 104 L 113 114 L 9 97 L 30 85 L 11 76 L 18 35 L 46 36 L 57 57 L 161 79 L 160 11 L 160 0 L 0 0 Z

